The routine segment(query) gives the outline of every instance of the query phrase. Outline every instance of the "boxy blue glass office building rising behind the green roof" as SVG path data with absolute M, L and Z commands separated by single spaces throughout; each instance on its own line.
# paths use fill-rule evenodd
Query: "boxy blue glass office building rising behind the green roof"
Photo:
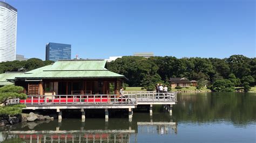
M 49 42 L 46 44 L 45 60 L 58 61 L 71 59 L 71 45 Z

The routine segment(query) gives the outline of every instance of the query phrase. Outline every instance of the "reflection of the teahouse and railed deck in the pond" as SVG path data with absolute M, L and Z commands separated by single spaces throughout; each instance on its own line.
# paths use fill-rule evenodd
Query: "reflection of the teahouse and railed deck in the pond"
M 91 124 L 95 121 L 99 124 Z M 104 119 L 86 119 L 83 123 L 78 119 L 63 119 L 62 123 L 58 120 L 35 121 L 5 127 L 3 130 L 0 134 L 4 142 L 137 142 L 138 133 L 177 134 L 177 123 L 129 123 L 125 119 L 107 122 Z

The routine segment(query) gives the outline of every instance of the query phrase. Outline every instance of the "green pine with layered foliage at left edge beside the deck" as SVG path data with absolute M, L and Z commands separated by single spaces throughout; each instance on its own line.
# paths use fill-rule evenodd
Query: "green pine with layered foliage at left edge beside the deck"
M 23 87 L 18 87 L 15 85 L 5 85 L 0 88 L 0 104 L 3 106 L 0 107 L 0 115 L 17 115 L 22 112 L 22 108 L 25 107 L 24 104 L 15 104 L 8 105 L 8 99 L 25 99 L 26 95 L 21 93 Z

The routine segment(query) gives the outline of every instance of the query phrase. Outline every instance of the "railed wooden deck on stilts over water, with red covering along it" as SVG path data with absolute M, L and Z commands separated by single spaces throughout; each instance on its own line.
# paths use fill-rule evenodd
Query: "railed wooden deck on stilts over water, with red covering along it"
M 85 119 L 84 109 L 105 109 L 105 118 L 109 118 L 107 109 L 129 109 L 129 119 L 132 109 L 137 105 L 150 105 L 150 115 L 154 104 L 168 106 L 170 114 L 172 105 L 177 103 L 174 92 L 157 93 L 154 91 L 131 91 L 123 95 L 28 95 L 26 99 L 9 99 L 9 104 L 22 103 L 26 109 L 56 109 L 59 119 L 62 119 L 62 109 L 80 109 L 82 119 Z

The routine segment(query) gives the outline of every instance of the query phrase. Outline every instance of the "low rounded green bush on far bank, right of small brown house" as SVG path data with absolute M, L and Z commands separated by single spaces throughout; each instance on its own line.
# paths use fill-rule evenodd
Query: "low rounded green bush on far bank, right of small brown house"
M 219 92 L 233 92 L 234 84 L 230 80 L 217 80 L 213 83 L 212 89 Z

